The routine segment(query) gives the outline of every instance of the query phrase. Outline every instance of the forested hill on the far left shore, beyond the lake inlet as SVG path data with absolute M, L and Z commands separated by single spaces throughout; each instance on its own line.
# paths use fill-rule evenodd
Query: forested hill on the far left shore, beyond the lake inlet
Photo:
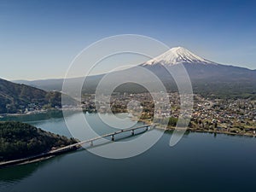
M 0 113 L 61 107 L 61 93 L 0 79 Z

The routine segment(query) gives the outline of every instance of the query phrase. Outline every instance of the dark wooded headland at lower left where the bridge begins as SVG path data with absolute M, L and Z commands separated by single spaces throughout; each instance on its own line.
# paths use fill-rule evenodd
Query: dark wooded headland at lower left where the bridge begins
M 0 161 L 5 161 L 41 154 L 76 140 L 20 122 L 0 122 L 0 143 Z

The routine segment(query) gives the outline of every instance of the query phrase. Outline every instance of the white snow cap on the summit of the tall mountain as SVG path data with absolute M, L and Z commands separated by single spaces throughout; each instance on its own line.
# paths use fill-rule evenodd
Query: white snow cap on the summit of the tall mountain
M 167 50 L 162 55 L 155 57 L 144 63 L 144 65 L 154 65 L 154 64 L 163 64 L 163 65 L 176 65 L 178 63 L 212 63 L 212 61 L 207 61 L 200 56 L 197 56 L 191 53 L 188 49 L 183 47 L 174 47 Z

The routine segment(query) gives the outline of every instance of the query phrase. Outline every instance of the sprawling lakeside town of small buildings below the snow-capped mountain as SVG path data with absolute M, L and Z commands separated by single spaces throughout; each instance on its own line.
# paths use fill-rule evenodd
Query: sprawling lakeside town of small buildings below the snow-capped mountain
M 109 101 L 108 96 L 101 96 L 95 104 L 95 95 L 84 95 L 82 108 L 93 113 L 131 113 L 142 121 L 150 122 L 155 118 L 167 119 L 168 128 L 173 129 L 180 115 L 180 98 L 177 92 L 168 93 L 171 111 L 162 105 L 154 112 L 153 100 L 149 93 L 129 94 L 114 93 Z M 137 101 L 137 102 L 131 102 Z M 141 106 L 138 107 L 138 103 Z M 111 108 L 106 108 L 106 104 Z M 129 108 L 127 108 L 127 105 Z M 96 109 L 97 107 L 97 109 Z M 111 110 L 111 111 L 110 111 Z M 167 122 L 168 122 L 167 121 Z M 194 94 L 194 108 L 189 122 L 191 131 L 207 131 L 232 135 L 256 135 L 256 101 L 250 99 L 209 99 Z

